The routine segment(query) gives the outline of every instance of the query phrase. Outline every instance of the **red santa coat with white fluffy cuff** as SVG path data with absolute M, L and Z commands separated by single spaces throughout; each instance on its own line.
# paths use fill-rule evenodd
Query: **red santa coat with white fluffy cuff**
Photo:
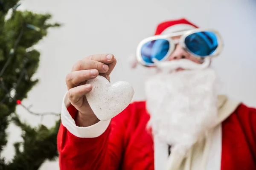
M 90 127 L 76 127 L 76 112 L 72 105 L 63 105 L 58 133 L 61 170 L 154 170 L 145 102 L 134 102 L 110 121 Z M 256 109 L 241 104 L 222 122 L 220 169 L 256 170 Z

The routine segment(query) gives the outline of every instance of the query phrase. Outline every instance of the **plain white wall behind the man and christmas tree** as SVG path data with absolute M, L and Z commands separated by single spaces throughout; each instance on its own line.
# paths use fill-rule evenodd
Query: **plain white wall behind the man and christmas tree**
M 145 37 L 154 34 L 158 23 L 186 17 L 202 28 L 215 28 L 224 39 L 224 51 L 213 60 L 223 82 L 223 94 L 256 107 L 256 1 L 255 0 L 23 0 L 20 9 L 49 12 L 64 25 L 49 31 L 37 45 L 41 61 L 36 78 L 40 83 L 23 104 L 32 111 L 60 112 L 66 92 L 65 77 L 72 65 L 90 54 L 112 53 L 117 59 L 112 82 L 125 80 L 134 87 L 134 100 L 144 99 L 144 81 L 151 70 L 129 68 L 127 57 Z M 56 117 L 43 119 L 18 107 L 22 120 L 32 126 L 54 125 Z M 10 125 L 7 160 L 21 140 L 20 130 Z M 58 161 L 47 161 L 41 170 L 58 170 Z

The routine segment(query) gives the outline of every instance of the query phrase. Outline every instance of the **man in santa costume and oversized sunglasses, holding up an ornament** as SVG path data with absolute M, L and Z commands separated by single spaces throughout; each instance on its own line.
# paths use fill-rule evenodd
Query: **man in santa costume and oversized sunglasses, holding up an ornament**
M 67 75 L 58 133 L 61 170 L 256 170 L 256 109 L 218 94 L 210 61 L 220 54 L 218 31 L 185 19 L 158 25 L 142 40 L 137 62 L 157 73 L 146 100 L 99 121 L 85 83 L 109 75 L 112 54 L 77 62 Z

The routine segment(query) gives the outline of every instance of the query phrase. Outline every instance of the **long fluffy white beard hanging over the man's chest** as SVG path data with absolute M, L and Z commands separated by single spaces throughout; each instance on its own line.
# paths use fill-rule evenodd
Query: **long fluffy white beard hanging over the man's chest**
M 217 122 L 217 84 L 211 68 L 162 72 L 148 79 L 146 107 L 154 136 L 185 154 Z

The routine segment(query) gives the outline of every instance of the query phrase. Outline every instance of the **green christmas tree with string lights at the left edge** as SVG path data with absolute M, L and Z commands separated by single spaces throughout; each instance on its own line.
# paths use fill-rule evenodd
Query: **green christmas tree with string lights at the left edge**
M 50 14 L 19 11 L 19 5 L 19 0 L 0 0 L 0 170 L 37 170 L 44 161 L 58 157 L 60 120 L 52 128 L 31 127 L 20 121 L 16 106 L 38 83 L 38 79 L 31 79 L 40 60 L 40 52 L 33 46 L 47 35 L 48 28 L 60 24 L 48 23 Z M 15 156 L 6 161 L 1 152 L 11 121 L 21 128 L 23 141 L 14 144 Z

